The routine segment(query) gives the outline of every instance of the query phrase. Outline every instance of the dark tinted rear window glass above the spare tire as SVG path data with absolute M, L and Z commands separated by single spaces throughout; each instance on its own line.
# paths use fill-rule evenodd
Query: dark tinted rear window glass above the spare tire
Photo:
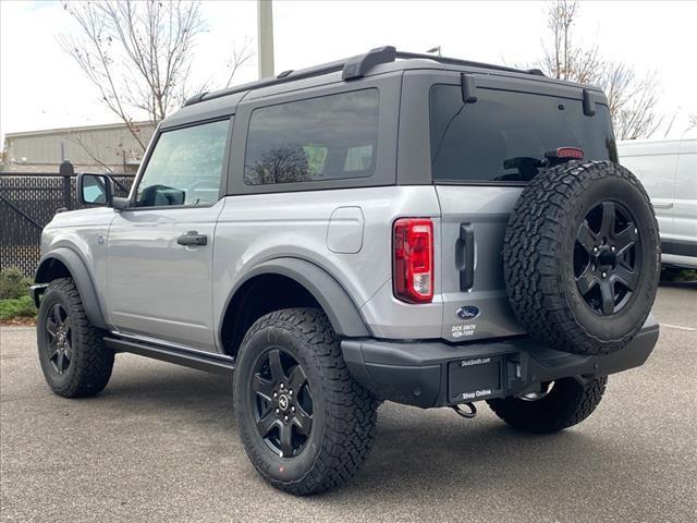
M 463 104 L 460 86 L 435 85 L 429 105 L 436 181 L 529 181 L 540 169 L 536 160 L 558 147 L 616 160 L 610 113 L 600 104 L 587 117 L 580 100 L 485 88 Z

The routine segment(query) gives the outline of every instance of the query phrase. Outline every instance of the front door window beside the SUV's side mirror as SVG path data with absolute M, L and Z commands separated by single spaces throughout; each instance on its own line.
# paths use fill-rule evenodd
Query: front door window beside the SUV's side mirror
M 219 199 L 230 120 L 163 132 L 136 193 L 138 207 L 210 205 Z

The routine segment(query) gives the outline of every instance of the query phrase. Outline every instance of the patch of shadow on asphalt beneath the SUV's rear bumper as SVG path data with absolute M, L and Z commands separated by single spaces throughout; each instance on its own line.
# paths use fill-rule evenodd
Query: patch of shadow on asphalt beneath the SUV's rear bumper
M 426 499 L 453 485 L 463 496 L 508 491 L 529 501 L 543 489 L 543 498 L 563 497 L 570 482 L 592 482 L 592 471 L 616 458 L 597 434 L 571 429 L 530 435 L 493 417 L 485 403 L 477 405 L 484 412 L 474 421 L 454 413 L 450 418 L 440 410 L 421 413 L 424 419 L 417 423 L 403 423 L 402 408 L 393 405 L 382 416 L 375 449 L 351 487 L 353 494 L 357 489 L 370 496 L 379 482 L 379 496 L 394 500 L 406 499 L 425 484 L 432 489 L 421 495 Z

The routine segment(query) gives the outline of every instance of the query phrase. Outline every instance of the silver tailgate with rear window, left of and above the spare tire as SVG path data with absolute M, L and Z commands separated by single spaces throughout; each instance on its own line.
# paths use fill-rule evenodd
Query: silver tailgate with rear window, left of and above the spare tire
M 547 168 L 540 159 L 560 147 L 616 159 L 601 93 L 469 80 L 429 92 L 431 175 L 442 214 L 441 336 L 450 341 L 523 333 L 505 291 L 503 239 L 523 186 Z M 539 93 L 522 90 L 528 88 Z

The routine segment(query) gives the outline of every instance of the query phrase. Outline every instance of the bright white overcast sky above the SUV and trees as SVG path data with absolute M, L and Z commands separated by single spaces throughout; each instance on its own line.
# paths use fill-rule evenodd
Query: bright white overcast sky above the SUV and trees
M 493 63 L 526 63 L 541 53 L 545 2 L 279 1 L 273 5 L 276 72 L 365 52 L 384 45 Z M 657 71 L 661 109 L 677 111 L 670 137 L 697 113 L 697 2 L 583 2 L 576 34 L 597 38 L 601 53 Z M 252 40 L 256 2 L 207 1 L 208 32 L 196 48 L 194 83 L 213 76 L 225 50 Z M 0 141 L 4 133 L 110 123 L 95 88 L 57 36 L 74 31 L 59 1 L 0 0 Z M 235 83 L 256 78 L 256 61 Z

